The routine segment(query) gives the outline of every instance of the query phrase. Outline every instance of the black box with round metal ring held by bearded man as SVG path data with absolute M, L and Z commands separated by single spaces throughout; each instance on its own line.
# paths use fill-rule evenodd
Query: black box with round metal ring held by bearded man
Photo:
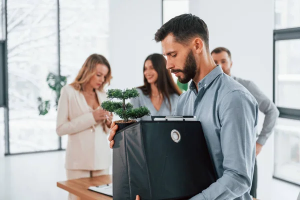
M 199 121 L 139 121 L 114 136 L 113 199 L 187 199 L 215 182 Z

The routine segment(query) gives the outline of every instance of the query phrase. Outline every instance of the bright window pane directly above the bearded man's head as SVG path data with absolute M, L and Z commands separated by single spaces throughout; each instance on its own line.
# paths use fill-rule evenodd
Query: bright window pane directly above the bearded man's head
M 188 13 L 189 0 L 162 0 L 162 21 L 167 22 L 174 16 Z

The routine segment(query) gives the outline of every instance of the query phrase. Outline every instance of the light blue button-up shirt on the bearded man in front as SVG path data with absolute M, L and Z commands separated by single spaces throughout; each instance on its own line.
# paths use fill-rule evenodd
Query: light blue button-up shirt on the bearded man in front
M 217 181 L 191 199 L 251 200 L 258 104 L 250 92 L 218 65 L 177 101 L 175 115 L 201 122 Z M 200 177 L 199 177 L 200 178 Z

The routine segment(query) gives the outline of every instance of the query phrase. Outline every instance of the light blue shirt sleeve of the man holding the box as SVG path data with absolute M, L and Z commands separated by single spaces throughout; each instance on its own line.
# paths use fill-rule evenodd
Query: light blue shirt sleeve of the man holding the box
M 232 91 L 219 105 L 220 143 L 224 172 L 192 200 L 234 199 L 247 192 L 255 160 L 255 134 L 258 119 L 256 100 L 243 91 Z

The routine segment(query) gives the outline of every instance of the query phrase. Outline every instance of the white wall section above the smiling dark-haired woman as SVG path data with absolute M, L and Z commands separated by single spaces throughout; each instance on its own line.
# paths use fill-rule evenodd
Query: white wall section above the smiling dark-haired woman
M 161 0 L 110 0 L 110 88 L 143 84 L 143 62 L 151 53 L 161 53 L 153 38 L 161 26 Z

